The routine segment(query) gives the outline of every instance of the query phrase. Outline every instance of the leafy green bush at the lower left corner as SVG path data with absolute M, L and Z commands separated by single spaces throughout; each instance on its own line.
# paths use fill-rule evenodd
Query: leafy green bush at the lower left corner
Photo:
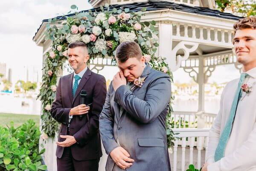
M 41 164 L 39 152 L 39 127 L 33 120 L 15 128 L 11 122 L 8 128 L 0 126 L 0 170 L 1 171 L 41 171 L 46 165 Z

